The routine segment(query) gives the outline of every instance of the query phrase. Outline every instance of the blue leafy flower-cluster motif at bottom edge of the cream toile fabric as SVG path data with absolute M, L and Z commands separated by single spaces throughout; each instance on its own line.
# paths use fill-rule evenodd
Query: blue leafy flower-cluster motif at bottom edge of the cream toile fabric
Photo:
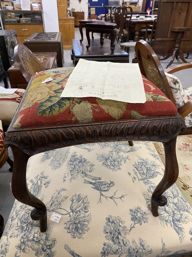
M 119 257 L 126 254 L 126 257 L 133 256 L 145 256 L 152 253 L 152 249 L 147 245 L 147 242 L 139 238 L 139 245 L 136 241 L 132 240 L 132 245 L 127 239 L 131 230 L 136 224 L 142 225 L 147 223 L 147 214 L 141 209 L 140 206 L 130 209 L 131 220 L 134 221 L 134 225 L 131 224 L 130 230 L 125 226 L 125 222 L 120 217 L 114 217 L 109 215 L 106 218 L 103 233 L 105 234 L 108 242 L 103 243 L 103 249 L 101 256 L 118 255 Z

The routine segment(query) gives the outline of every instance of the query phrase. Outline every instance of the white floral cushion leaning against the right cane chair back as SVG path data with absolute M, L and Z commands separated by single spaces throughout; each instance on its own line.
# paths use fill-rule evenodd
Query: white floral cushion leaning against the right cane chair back
M 169 74 L 167 72 L 165 72 L 165 75 L 167 77 L 171 91 L 173 93 L 173 97 L 175 99 L 176 106 L 179 109 L 181 106 L 186 104 L 189 100 L 187 99 L 185 91 L 182 88 L 182 84 L 181 84 L 180 80 L 176 76 Z

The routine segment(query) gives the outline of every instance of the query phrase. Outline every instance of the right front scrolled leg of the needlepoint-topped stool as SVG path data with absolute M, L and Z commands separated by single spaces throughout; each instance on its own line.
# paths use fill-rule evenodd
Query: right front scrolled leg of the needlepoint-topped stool
M 165 172 L 161 182 L 157 185 L 151 197 L 151 211 L 155 217 L 159 215 L 158 206 L 167 204 L 167 198 L 162 194 L 176 182 L 179 175 L 176 157 L 176 140 L 177 136 L 163 143 L 165 150 Z

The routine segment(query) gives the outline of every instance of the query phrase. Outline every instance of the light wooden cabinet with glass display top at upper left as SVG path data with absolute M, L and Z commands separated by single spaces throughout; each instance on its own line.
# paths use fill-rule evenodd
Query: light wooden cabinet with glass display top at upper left
M 6 30 L 14 29 L 19 44 L 35 32 L 44 32 L 42 11 L 16 11 L 2 10 L 3 23 Z M 23 19 L 21 19 L 23 18 Z M 30 22 L 22 22 L 23 20 Z

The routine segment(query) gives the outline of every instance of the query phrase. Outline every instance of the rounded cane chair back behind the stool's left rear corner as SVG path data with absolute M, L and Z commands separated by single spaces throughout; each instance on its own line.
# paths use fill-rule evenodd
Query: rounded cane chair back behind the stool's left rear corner
M 25 45 L 16 45 L 14 53 L 19 69 L 22 72 L 25 79 L 27 80 L 27 82 L 29 82 L 31 77 L 33 77 L 36 72 L 45 70 L 45 68 L 41 65 L 39 60 Z

